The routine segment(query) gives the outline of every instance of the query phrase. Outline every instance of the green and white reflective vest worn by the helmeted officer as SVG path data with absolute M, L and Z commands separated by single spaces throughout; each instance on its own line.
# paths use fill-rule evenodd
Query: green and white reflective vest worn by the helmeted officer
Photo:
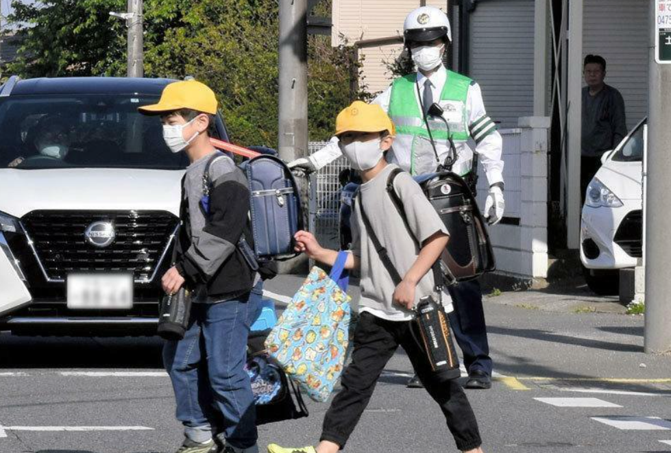
M 396 126 L 393 160 L 402 168 L 409 169 L 413 175 L 435 171 L 437 165 L 435 153 L 430 147 L 415 149 L 417 138 L 429 139 L 426 123 L 415 95 L 416 78 L 415 73 L 395 79 L 389 99 L 389 117 Z M 439 105 L 445 110 L 443 118 L 450 125 L 450 136 L 455 143 L 466 142 L 471 135 L 466 111 L 466 99 L 471 82 L 468 77 L 448 71 L 448 78 L 441 93 Z M 442 158 L 448 150 L 448 126 L 441 119 L 430 119 L 429 127 L 439 156 Z

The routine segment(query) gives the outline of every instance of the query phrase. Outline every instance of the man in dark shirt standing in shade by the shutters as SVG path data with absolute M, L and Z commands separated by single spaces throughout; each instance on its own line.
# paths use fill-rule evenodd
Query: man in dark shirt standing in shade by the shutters
M 585 57 L 583 74 L 583 132 L 581 143 L 581 191 L 601 167 L 601 156 L 626 136 L 624 99 L 618 90 L 604 83 L 606 60 L 598 55 Z

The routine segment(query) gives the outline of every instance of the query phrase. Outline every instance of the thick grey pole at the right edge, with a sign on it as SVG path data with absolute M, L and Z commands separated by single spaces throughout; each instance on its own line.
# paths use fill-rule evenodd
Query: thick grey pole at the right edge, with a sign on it
M 671 212 L 665 209 L 671 193 L 671 64 L 655 62 L 655 0 L 648 0 L 651 12 L 650 75 L 648 79 L 648 177 L 646 191 L 646 354 L 671 352 L 671 279 L 668 275 L 671 250 Z

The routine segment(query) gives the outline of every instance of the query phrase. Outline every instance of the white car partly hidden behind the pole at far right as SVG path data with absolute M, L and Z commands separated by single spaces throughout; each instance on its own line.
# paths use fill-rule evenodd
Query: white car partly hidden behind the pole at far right
M 605 153 L 587 187 L 581 217 L 580 258 L 589 288 L 617 294 L 619 269 L 642 258 L 643 156 L 646 119 Z

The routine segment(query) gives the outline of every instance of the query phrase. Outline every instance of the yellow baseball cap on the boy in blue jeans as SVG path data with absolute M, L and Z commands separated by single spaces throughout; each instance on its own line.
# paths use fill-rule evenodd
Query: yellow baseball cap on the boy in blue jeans
M 182 108 L 216 114 L 217 97 L 206 84 L 197 80 L 183 80 L 166 85 L 158 103 L 139 107 L 138 110 L 144 114 L 155 115 Z

